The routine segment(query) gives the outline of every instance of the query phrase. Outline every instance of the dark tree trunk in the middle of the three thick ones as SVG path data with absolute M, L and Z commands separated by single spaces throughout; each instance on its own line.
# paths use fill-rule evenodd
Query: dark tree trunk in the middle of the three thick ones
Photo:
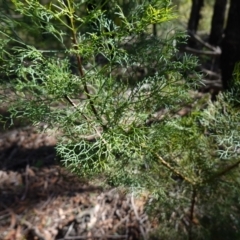
M 215 0 L 209 43 L 220 46 L 223 35 L 227 0 Z

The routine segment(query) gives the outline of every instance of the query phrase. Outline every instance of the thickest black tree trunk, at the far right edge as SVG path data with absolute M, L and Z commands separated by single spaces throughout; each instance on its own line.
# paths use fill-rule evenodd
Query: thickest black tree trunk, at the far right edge
M 240 61 L 240 0 L 231 0 L 222 42 L 221 70 L 224 89 L 230 88 L 233 69 L 238 61 Z

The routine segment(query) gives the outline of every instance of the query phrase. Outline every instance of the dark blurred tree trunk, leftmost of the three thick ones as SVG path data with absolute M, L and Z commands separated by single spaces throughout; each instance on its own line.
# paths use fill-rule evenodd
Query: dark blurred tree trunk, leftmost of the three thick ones
M 192 0 L 192 8 L 191 8 L 191 14 L 188 21 L 188 33 L 194 34 L 197 31 L 198 23 L 201 18 L 201 9 L 203 7 L 204 0 Z M 188 41 L 188 45 L 190 47 L 194 47 L 194 41 L 190 38 Z

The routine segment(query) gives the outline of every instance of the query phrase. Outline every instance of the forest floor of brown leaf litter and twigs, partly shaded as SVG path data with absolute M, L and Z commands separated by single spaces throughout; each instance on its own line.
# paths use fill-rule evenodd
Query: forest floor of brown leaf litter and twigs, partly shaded
M 54 134 L 0 134 L 0 239 L 147 239 L 146 197 L 89 183 L 59 164 Z

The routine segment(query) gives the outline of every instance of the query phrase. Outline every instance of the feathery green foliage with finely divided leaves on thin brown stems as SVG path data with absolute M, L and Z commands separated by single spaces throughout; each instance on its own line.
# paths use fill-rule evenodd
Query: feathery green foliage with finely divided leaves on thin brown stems
M 85 2 L 12 1 L 21 21 L 1 15 L 0 101 L 59 130 L 71 171 L 147 191 L 161 238 L 239 238 L 238 71 L 235 91 L 193 104 L 197 61 L 175 47 L 184 34 L 166 31 L 169 1 L 109 1 L 110 15 Z

